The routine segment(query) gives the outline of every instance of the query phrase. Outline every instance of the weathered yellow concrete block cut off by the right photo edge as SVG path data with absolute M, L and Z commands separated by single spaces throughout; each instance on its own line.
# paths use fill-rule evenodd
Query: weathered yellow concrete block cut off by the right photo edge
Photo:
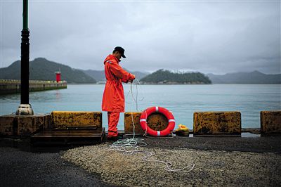
M 281 133 L 281 111 L 261 111 L 261 133 Z

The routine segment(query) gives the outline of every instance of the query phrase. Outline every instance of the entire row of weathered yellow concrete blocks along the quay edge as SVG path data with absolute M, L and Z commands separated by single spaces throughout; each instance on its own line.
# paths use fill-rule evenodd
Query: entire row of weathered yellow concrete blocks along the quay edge
M 124 133 L 132 134 L 133 126 L 136 134 L 144 134 L 141 129 L 142 112 L 124 113 Z M 83 127 L 103 127 L 102 112 L 53 111 L 44 115 L 2 115 L 0 116 L 0 136 L 30 136 L 38 130 L 67 129 Z M 166 128 L 169 121 L 160 113 L 148 117 L 148 126 L 157 131 Z M 177 127 L 176 127 L 177 128 Z M 241 128 L 239 111 L 225 112 L 194 112 L 192 133 L 195 136 L 209 135 L 240 135 L 241 132 L 257 129 Z M 261 111 L 262 135 L 281 134 L 281 111 Z

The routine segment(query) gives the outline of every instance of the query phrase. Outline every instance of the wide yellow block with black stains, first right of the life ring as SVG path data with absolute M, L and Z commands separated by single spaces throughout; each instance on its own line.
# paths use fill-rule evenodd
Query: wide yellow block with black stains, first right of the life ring
M 241 113 L 194 112 L 193 134 L 196 135 L 239 135 L 241 134 Z

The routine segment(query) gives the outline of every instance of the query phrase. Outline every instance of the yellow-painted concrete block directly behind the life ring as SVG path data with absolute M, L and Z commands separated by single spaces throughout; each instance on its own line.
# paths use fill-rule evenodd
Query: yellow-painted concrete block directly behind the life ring
M 133 124 L 135 124 L 135 133 L 144 134 L 145 131 L 141 129 L 140 117 L 142 112 L 125 112 L 124 114 L 124 133 L 133 133 Z M 148 116 L 148 126 L 156 131 L 162 131 L 168 126 L 168 120 L 160 113 L 153 113 Z

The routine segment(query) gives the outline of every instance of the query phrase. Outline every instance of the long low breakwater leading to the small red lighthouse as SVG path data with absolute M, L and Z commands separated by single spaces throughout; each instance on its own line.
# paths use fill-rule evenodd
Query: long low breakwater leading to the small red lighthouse
M 51 89 L 66 89 L 66 81 L 38 81 L 30 80 L 30 91 L 44 91 Z M 0 95 L 9 93 L 20 93 L 20 80 L 0 79 Z

